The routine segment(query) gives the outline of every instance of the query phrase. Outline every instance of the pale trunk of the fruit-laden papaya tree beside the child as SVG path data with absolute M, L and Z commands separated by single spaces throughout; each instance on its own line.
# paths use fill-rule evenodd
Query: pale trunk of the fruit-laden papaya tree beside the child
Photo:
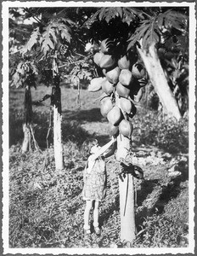
M 117 137 L 116 160 L 127 160 L 131 141 L 127 137 Z M 121 168 L 120 168 L 121 169 Z M 120 170 L 121 172 L 121 170 Z M 121 212 L 121 241 L 133 241 L 136 237 L 134 184 L 131 173 L 119 177 L 120 212 Z

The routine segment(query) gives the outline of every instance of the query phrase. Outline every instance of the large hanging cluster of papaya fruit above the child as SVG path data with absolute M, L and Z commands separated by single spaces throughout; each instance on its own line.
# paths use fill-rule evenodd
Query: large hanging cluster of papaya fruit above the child
M 113 42 L 104 39 L 100 50 L 93 55 L 93 61 L 102 75 L 91 80 L 88 90 L 103 90 L 100 96 L 100 112 L 110 122 L 110 136 L 119 133 L 132 136 L 132 117 L 136 113 L 135 103 L 143 96 L 145 69 L 138 63 L 136 56 L 110 53 Z

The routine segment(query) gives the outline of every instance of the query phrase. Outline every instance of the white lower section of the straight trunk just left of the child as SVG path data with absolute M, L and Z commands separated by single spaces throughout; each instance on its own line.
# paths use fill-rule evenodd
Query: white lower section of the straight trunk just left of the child
M 65 168 L 63 158 L 61 121 L 62 115 L 58 112 L 58 108 L 53 106 L 53 147 L 56 170 L 63 170 Z

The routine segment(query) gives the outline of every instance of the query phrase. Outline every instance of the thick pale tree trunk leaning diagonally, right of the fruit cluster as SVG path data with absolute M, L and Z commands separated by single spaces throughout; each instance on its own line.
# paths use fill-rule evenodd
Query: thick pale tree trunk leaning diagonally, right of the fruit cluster
M 172 90 L 167 84 L 165 73 L 160 65 L 160 60 L 155 50 L 155 44 L 150 45 L 149 52 L 139 47 L 138 52 L 144 61 L 144 66 L 149 74 L 149 79 L 155 88 L 155 92 L 160 98 L 164 113 L 179 120 L 181 118 L 181 113 Z

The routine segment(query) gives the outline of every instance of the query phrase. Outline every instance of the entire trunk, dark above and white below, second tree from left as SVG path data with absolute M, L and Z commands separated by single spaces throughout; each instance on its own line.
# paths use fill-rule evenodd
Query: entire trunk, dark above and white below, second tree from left
M 63 158 L 63 145 L 62 145 L 62 114 L 61 114 L 61 90 L 59 87 L 59 73 L 57 66 L 54 69 L 53 64 L 53 88 L 52 88 L 52 106 L 53 106 L 53 148 L 54 160 L 56 170 L 63 170 L 65 168 Z M 56 72 L 55 72 L 56 70 Z

